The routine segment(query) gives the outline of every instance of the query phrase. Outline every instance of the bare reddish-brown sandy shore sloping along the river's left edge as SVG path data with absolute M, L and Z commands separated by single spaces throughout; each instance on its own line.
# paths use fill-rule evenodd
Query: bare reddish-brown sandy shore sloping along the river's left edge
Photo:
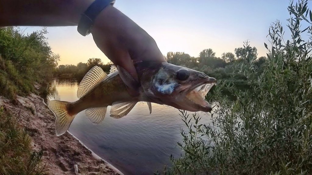
M 78 165 L 79 174 L 117 175 L 122 173 L 111 164 L 94 154 L 69 132 L 56 136 L 55 117 L 40 96 L 17 96 L 18 105 L 0 97 L 0 106 L 12 115 L 20 117 L 21 124 L 30 132 L 32 145 L 43 151 L 43 163 L 49 173 L 55 175 L 75 174 L 74 165 Z

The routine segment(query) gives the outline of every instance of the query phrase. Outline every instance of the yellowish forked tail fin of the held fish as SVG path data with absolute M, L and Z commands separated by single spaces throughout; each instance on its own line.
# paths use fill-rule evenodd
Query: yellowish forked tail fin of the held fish
M 57 136 L 63 135 L 68 130 L 69 126 L 71 125 L 71 122 L 76 116 L 76 114 L 70 115 L 68 113 L 68 110 L 66 107 L 66 104 L 68 103 L 70 102 L 52 100 L 48 104 L 48 107 L 56 116 L 55 133 Z

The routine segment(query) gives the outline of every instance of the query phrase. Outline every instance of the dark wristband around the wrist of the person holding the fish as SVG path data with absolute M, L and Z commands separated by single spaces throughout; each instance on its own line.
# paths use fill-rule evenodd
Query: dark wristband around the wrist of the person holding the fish
M 83 35 L 91 33 L 91 27 L 97 15 L 108 5 L 114 5 L 115 0 L 95 0 L 87 10 L 81 15 L 78 23 L 77 31 Z

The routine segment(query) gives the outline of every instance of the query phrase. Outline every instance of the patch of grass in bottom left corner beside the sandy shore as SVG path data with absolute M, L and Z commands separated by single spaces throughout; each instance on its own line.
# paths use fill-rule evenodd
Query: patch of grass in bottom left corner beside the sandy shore
M 46 175 L 42 152 L 32 150 L 31 139 L 19 118 L 0 107 L 0 174 Z

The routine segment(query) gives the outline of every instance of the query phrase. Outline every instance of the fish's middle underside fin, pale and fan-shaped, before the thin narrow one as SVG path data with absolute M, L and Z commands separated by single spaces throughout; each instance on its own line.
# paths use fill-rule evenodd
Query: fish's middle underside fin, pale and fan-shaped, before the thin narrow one
M 114 102 L 110 108 L 110 116 L 121 118 L 127 115 L 137 102 Z

